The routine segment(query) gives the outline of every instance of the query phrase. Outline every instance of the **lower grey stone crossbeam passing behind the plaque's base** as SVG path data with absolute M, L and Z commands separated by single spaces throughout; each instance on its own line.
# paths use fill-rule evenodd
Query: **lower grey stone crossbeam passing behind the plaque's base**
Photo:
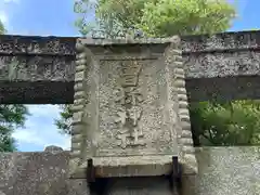
M 183 178 L 183 195 L 260 194 L 260 147 L 203 147 L 196 155 L 199 173 Z M 0 154 L 0 195 L 89 194 L 86 180 L 67 178 L 68 158 L 69 152 Z M 170 195 L 165 178 L 114 179 L 104 186 L 110 195 Z

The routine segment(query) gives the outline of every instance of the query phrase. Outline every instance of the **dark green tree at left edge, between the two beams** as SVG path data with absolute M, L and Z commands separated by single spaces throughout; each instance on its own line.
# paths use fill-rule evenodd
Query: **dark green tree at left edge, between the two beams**
M 0 21 L 0 35 L 4 34 L 5 29 Z M 1 105 L 0 104 L 0 152 L 16 151 L 15 140 L 12 138 L 12 132 L 15 128 L 23 127 L 28 115 L 25 105 Z

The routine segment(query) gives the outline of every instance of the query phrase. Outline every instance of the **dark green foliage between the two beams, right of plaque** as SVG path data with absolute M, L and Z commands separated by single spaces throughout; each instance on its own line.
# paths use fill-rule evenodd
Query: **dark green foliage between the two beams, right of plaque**
M 192 129 L 196 144 L 259 145 L 260 102 L 200 102 L 191 106 Z

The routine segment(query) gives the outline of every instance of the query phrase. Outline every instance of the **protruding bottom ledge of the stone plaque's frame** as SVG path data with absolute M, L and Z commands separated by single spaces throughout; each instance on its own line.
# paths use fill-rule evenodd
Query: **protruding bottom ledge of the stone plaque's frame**
M 172 155 L 94 157 L 93 166 L 96 178 L 169 176 L 172 172 Z M 86 178 L 86 168 L 87 164 L 81 165 L 70 177 Z M 185 174 L 195 174 L 191 166 L 183 165 L 183 168 Z

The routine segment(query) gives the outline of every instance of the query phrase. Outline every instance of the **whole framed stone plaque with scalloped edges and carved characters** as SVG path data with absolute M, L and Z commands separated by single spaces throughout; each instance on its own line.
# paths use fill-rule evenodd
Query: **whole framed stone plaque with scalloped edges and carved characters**
M 90 50 L 93 40 L 78 40 L 73 173 L 81 170 L 83 177 L 89 158 L 100 177 L 171 171 L 171 158 L 180 154 L 178 136 L 185 131 L 182 123 L 190 122 L 184 72 L 179 40 L 156 41 L 139 43 L 142 49 L 135 50 L 135 44 L 122 42 Z M 161 44 L 162 50 L 152 52 L 151 44 Z M 184 140 L 192 143 L 191 133 Z

